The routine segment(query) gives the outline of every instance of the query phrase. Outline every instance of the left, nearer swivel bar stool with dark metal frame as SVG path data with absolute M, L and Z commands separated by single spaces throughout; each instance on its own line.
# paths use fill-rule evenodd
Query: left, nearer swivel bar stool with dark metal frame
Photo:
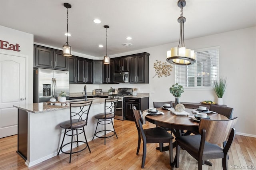
M 60 154 L 60 151 L 64 154 L 70 154 L 69 163 L 71 162 L 72 154 L 81 152 L 85 150 L 87 147 L 91 152 L 86 139 L 85 131 L 84 131 L 84 127 L 87 125 L 88 115 L 89 115 L 91 105 L 92 105 L 92 101 L 83 101 L 83 102 L 74 102 L 74 103 L 70 102 L 70 120 L 60 124 L 60 127 L 65 129 L 65 132 L 64 132 L 63 140 L 57 155 Z M 84 134 L 85 141 L 78 140 L 78 134 L 82 134 L 82 133 Z M 68 142 L 63 145 L 64 138 L 66 135 L 71 136 L 71 142 Z M 73 136 L 76 136 L 76 140 L 73 140 Z M 86 145 L 82 149 L 79 149 L 73 152 L 72 151 L 73 143 L 77 143 L 77 146 L 79 146 L 79 143 L 84 143 Z M 62 148 L 64 148 L 68 144 L 71 145 L 70 151 L 64 152 Z

